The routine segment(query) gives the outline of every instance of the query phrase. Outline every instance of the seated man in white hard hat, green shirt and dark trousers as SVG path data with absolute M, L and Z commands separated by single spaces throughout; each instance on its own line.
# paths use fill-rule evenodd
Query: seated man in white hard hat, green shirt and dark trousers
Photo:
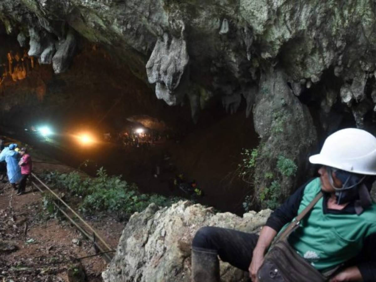
M 258 270 L 273 239 L 310 203 L 312 208 L 288 235 L 294 253 L 327 281 L 376 281 L 376 204 L 369 192 L 376 179 L 376 138 L 361 129 L 339 130 L 309 161 L 322 165 L 320 177 L 302 185 L 277 208 L 259 236 L 219 227 L 197 231 L 192 242 L 193 281 L 219 281 L 218 256 L 249 271 L 253 282 L 262 280 Z M 277 280 L 270 271 L 265 281 L 274 278 L 302 280 Z

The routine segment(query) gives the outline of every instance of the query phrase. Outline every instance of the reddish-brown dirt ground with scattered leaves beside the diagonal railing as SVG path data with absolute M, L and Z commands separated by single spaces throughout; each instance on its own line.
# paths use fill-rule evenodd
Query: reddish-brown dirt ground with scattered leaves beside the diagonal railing
M 64 165 L 39 163 L 35 171 L 42 169 L 69 171 Z M 0 248 L 1 281 L 68 281 L 67 270 L 73 263 L 42 266 L 54 261 L 93 255 L 90 241 L 83 238 L 68 221 L 51 218 L 43 209 L 42 195 L 30 191 L 16 196 L 9 184 L 0 183 L 0 247 L 2 243 L 16 246 L 17 250 L 2 252 Z M 124 223 L 110 216 L 85 218 L 102 238 L 116 249 Z M 25 224 L 27 234 L 25 236 Z M 72 240 L 79 240 L 79 246 Z M 24 268 L 33 265 L 33 268 Z M 84 259 L 82 265 L 88 281 L 102 281 L 101 272 L 106 262 L 99 256 Z

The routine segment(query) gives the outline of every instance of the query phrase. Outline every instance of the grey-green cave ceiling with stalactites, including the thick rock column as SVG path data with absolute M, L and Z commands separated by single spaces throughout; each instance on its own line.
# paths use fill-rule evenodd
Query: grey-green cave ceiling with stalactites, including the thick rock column
M 229 113 L 245 100 L 265 144 L 265 162 L 273 167 L 276 155 L 287 156 L 300 165 L 299 175 L 317 134 L 338 128 L 327 125 L 331 112 L 373 128 L 367 118 L 376 102 L 374 18 L 371 0 L 0 3 L 6 32 L 21 46 L 29 42 L 28 55 L 52 64 L 55 73 L 68 69 L 82 37 L 105 46 L 133 76 L 150 83 L 158 99 L 188 101 L 195 121 L 214 96 Z M 307 100 L 320 120 L 312 119 Z M 278 113 L 288 124 L 275 134 L 272 117 Z M 298 180 L 282 182 L 294 187 Z M 262 190 L 267 183 L 256 185 Z

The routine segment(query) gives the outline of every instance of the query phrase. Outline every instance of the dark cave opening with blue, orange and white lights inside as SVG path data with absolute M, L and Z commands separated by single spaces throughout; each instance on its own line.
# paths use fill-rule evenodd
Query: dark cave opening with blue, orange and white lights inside
M 4 62 L 7 52 L 16 50 L 15 38 L 9 40 L 0 54 Z M 229 115 L 221 100 L 213 99 L 194 124 L 188 99 L 167 106 L 126 65 L 85 41 L 67 72 L 55 74 L 51 65 L 35 60 L 26 77 L 3 85 L 1 93 L 1 130 L 50 158 L 92 176 L 103 166 L 144 193 L 185 197 L 174 185 L 179 177 L 203 191 L 198 202 L 244 212 L 249 185 L 236 170 L 242 149 L 259 142 L 244 100 Z M 32 130 L 40 125 L 54 134 L 41 138 Z M 88 146 L 91 138 L 95 145 Z

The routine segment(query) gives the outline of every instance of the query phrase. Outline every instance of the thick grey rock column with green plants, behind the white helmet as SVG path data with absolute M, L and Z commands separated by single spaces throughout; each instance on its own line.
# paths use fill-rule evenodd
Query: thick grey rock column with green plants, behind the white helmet
M 264 175 L 276 171 L 278 156 L 293 160 L 300 171 L 306 169 L 305 152 L 315 145 L 317 133 L 308 108 L 294 95 L 283 71 L 271 69 L 262 77 L 259 89 L 253 120 L 261 137 L 262 162 L 255 167 L 254 185 L 255 191 L 261 193 L 270 186 L 271 181 Z M 282 177 L 279 183 L 282 198 L 289 196 L 299 181 L 302 180 L 298 177 Z

